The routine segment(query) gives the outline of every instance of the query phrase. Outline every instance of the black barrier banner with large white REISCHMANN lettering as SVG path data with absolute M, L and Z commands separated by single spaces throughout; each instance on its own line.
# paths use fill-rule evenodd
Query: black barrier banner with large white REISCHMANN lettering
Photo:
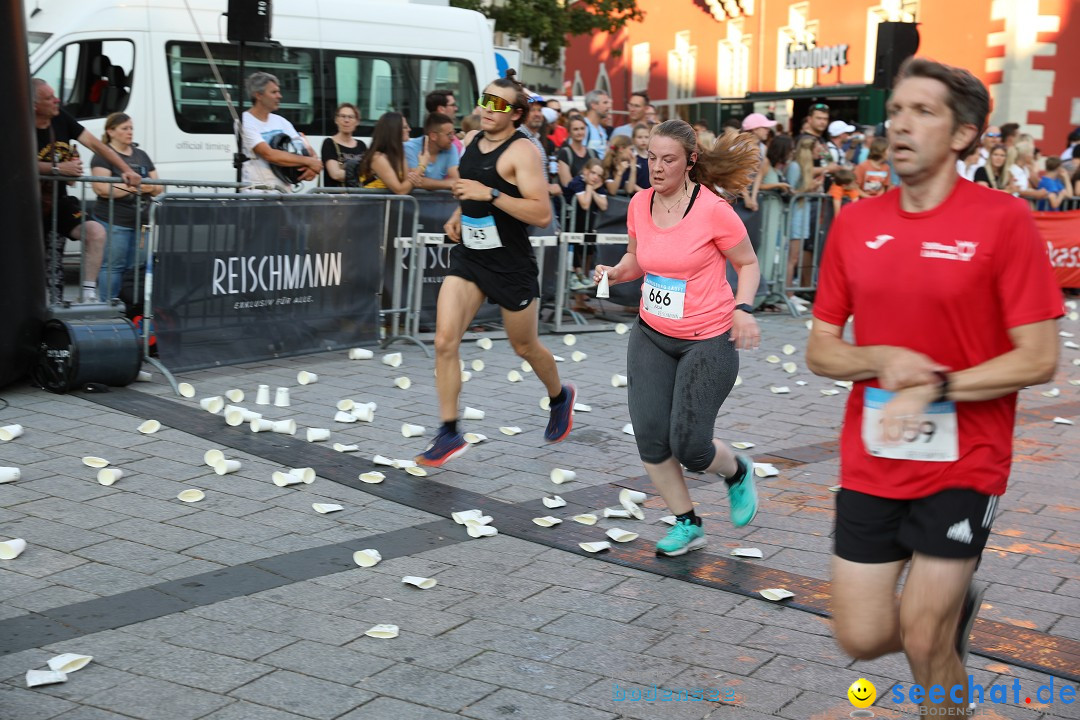
M 152 285 L 162 362 L 183 371 L 378 341 L 387 202 L 164 199 Z

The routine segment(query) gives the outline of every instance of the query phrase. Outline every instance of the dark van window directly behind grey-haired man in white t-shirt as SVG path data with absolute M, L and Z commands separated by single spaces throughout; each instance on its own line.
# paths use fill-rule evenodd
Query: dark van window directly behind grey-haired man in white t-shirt
M 240 78 L 240 47 L 224 43 L 210 43 L 221 79 L 228 86 L 233 104 L 251 99 L 244 97 Z M 197 42 L 170 42 L 165 45 L 168 57 L 170 87 L 176 124 L 185 133 L 231 133 L 232 116 L 221 96 L 210 60 Z M 292 122 L 301 133 L 322 135 L 323 126 L 316 112 L 319 51 L 282 46 L 253 46 L 244 50 L 244 74 L 262 70 L 281 81 L 282 101 L 278 113 Z

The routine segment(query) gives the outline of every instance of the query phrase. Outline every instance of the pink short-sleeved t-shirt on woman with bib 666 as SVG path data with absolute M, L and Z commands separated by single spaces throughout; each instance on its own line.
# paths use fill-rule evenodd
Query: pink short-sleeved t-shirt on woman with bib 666
M 666 336 L 704 340 L 731 327 L 734 296 L 724 250 L 746 236 L 746 228 L 715 193 L 702 188 L 690 213 L 671 228 L 658 228 L 649 205 L 656 191 L 630 201 L 626 230 L 637 240 L 645 271 L 640 317 Z

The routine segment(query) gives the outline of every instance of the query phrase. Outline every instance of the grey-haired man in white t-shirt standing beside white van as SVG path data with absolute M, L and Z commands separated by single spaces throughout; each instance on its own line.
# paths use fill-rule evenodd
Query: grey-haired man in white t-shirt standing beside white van
M 296 132 L 293 123 L 281 116 L 274 114 L 281 106 L 281 83 L 269 72 L 253 72 L 247 78 L 247 95 L 252 99 L 252 109 L 243 114 L 244 133 L 241 152 L 247 160 L 241 173 L 244 182 L 270 186 L 279 192 L 288 192 L 288 186 L 282 182 L 270 164 L 285 167 L 302 167 L 300 180 L 313 180 L 323 172 L 323 163 L 308 146 L 307 140 Z M 274 150 L 270 147 L 275 135 L 287 135 L 294 152 Z M 307 148 L 309 154 L 298 154 L 301 148 Z M 258 191 L 265 191 L 260 188 Z

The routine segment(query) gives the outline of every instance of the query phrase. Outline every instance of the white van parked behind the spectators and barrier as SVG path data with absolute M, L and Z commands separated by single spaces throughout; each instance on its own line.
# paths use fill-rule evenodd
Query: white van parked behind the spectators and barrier
M 198 24 L 233 103 L 246 107 L 240 46 L 226 40 L 227 5 L 37 0 L 27 21 L 31 73 L 95 135 L 110 112 L 131 116 L 135 140 L 160 177 L 234 180 L 232 117 L 195 30 Z M 453 91 L 468 111 L 497 74 L 490 25 L 473 11 L 405 0 L 273 0 L 272 12 L 273 42 L 245 46 L 244 74 L 279 78 L 279 112 L 315 152 L 336 132 L 340 103 L 360 108 L 362 137 L 390 110 L 419 134 L 430 91 Z

